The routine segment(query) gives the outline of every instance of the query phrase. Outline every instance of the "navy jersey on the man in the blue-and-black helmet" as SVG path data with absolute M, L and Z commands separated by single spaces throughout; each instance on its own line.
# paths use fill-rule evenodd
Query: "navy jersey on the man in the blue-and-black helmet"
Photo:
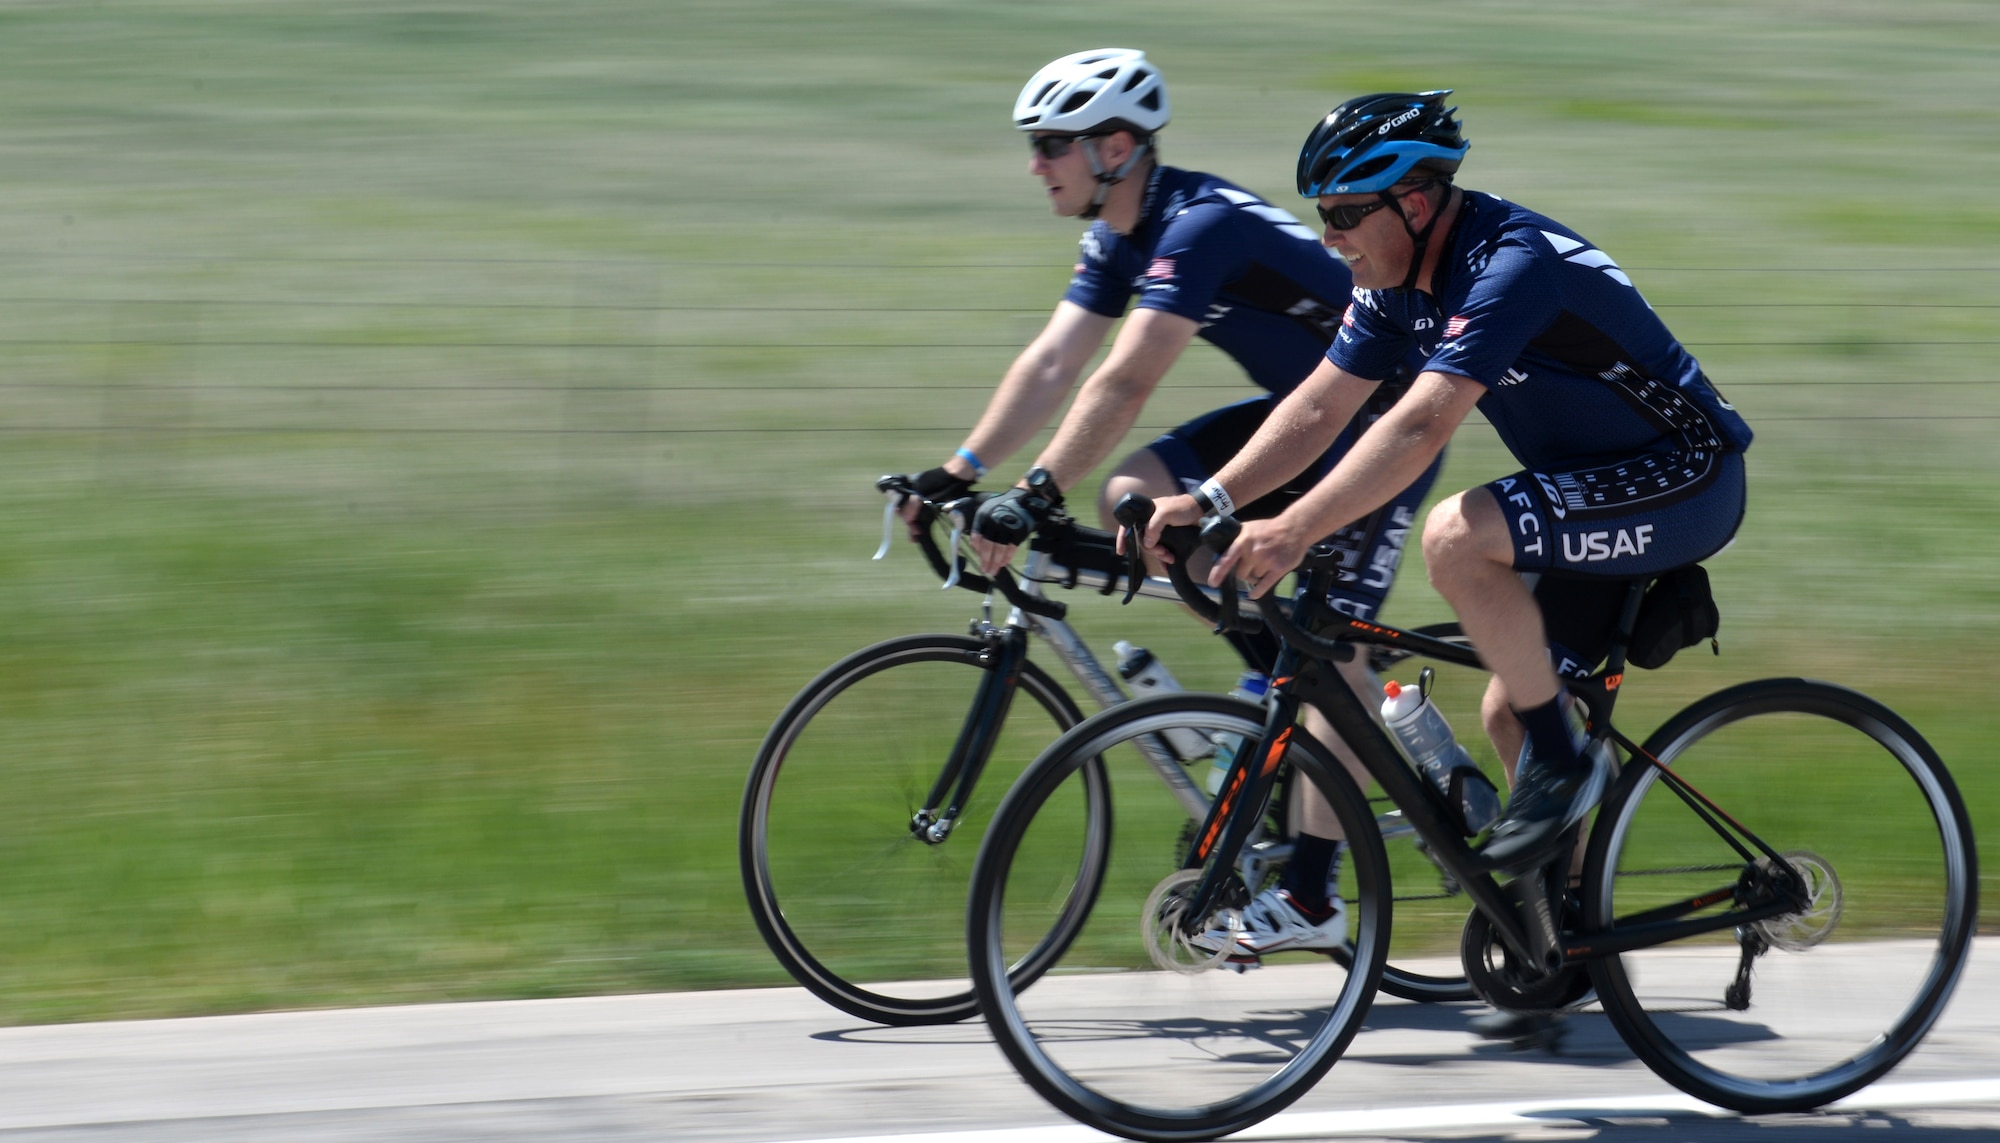
M 1412 350 L 1424 370 L 1486 386 L 1480 412 L 1534 470 L 1750 446 L 1750 426 L 1608 254 L 1490 194 L 1466 192 L 1430 294 L 1356 290 L 1326 356 L 1378 380 Z

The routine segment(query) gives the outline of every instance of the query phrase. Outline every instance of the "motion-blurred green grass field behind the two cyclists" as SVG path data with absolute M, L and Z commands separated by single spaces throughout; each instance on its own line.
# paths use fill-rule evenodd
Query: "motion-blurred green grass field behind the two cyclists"
M 1286 206 L 1328 106 L 1456 88 L 1462 182 L 1758 430 L 1724 655 L 1622 721 L 1856 685 L 1992 833 L 1990 4 L 14 2 L 0 1021 L 784 983 L 744 771 L 824 663 L 976 609 L 868 564 L 870 480 L 1054 306 L 1008 110 L 1100 44 L 1164 68 L 1168 162 Z M 1244 392 L 1196 348 L 1130 444 Z M 1440 492 L 1504 466 L 1468 428 Z M 1446 615 L 1420 566 L 1390 615 Z M 1078 625 L 1232 673 L 1166 607 Z

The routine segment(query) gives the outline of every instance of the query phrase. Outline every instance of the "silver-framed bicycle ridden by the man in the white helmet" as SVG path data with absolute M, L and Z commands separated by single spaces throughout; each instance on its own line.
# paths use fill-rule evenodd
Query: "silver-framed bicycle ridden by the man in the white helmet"
M 882 478 L 890 496 L 882 558 L 900 522 L 906 478 Z M 926 518 L 970 520 L 974 502 L 926 506 Z M 1146 577 L 1134 556 L 1118 556 L 1112 534 L 1068 518 L 1052 520 L 1030 542 L 1022 579 L 970 572 L 958 536 L 938 548 L 930 528 L 920 550 L 948 587 L 986 593 L 986 611 L 968 635 L 904 635 L 862 647 L 812 679 L 766 733 L 744 789 L 738 861 L 758 931 L 792 977 L 840 1011 L 886 1025 L 926 1025 L 978 1013 L 964 981 L 964 905 L 972 853 L 998 793 L 1036 753 L 1078 721 L 1070 693 L 1028 661 L 1030 637 L 1042 639 L 1100 705 L 1126 693 L 1070 627 L 1066 605 L 1044 589 L 1094 587 L 1112 593 L 1178 599 L 1176 589 Z M 1138 570 L 1138 573 L 1134 573 Z M 992 595 L 1010 607 L 992 621 Z M 1270 663 L 1252 663 L 1268 667 Z M 1366 681 L 1366 679 L 1364 679 Z M 1380 683 L 1372 683 L 1380 685 Z M 1016 703 L 1018 695 L 1030 703 Z M 1192 743 L 1192 745 L 1190 745 Z M 1212 735 L 1142 739 L 1146 769 L 1158 779 L 1146 813 L 1188 831 L 1208 815 L 1198 783 L 1216 749 Z M 1236 739 L 1226 739 L 1228 747 Z M 1190 777 L 1190 765 L 1196 767 Z M 984 801 L 980 793 L 986 793 Z M 1136 797 L 1136 795 L 1134 795 Z M 1076 937 L 1098 891 L 1092 853 L 1108 835 L 1110 791 L 1098 767 L 1086 767 L 1072 807 L 1078 839 L 1070 889 L 1050 905 L 1046 925 L 1010 961 L 1010 987 L 1028 987 Z M 1290 855 L 1286 795 L 1272 799 L 1266 823 L 1238 849 L 1250 883 L 1276 877 Z M 1360 827 L 1360 825 L 1356 825 Z M 1368 829 L 1414 837 L 1394 815 Z M 1178 837 L 1178 833 L 1176 833 Z M 1162 855 L 1184 843 L 1162 841 Z M 1400 853 L 1406 897 L 1450 901 L 1456 885 L 1414 849 Z M 1466 999 L 1462 975 L 1434 975 L 1392 965 L 1382 987 L 1418 1001 Z

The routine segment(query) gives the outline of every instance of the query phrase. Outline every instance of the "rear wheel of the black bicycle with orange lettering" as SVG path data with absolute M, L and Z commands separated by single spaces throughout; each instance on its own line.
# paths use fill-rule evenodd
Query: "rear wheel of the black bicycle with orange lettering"
M 1638 757 L 1590 831 L 1592 927 L 1740 911 L 1774 873 L 1802 907 L 1594 961 L 1620 1035 L 1662 1079 L 1744 1113 L 1820 1107 L 1884 1075 L 1944 1009 L 1978 913 L 1972 829 L 1936 751 L 1882 703 L 1808 679 L 1710 695 L 1644 751 L 1782 867 L 1730 847 Z

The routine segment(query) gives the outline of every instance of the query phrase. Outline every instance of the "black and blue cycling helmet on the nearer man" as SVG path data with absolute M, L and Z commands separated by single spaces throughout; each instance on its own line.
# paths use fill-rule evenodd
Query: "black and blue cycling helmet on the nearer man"
M 1444 106 L 1442 92 L 1360 96 L 1326 112 L 1298 152 L 1298 194 L 1374 194 L 1396 186 L 1424 160 L 1448 176 L 1472 144 Z

